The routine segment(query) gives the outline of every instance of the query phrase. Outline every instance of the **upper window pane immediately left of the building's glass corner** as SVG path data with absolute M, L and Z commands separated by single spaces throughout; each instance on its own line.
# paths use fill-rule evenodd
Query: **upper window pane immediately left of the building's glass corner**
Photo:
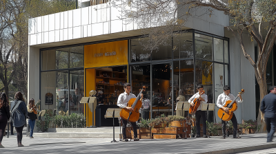
M 172 38 L 172 52 L 175 59 L 193 58 L 193 33 L 177 34 Z

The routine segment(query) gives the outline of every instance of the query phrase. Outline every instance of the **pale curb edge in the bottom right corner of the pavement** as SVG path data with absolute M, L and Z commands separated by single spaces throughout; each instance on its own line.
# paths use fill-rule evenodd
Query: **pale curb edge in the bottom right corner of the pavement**
M 249 151 L 259 151 L 264 150 L 267 148 L 275 148 L 276 143 L 273 144 L 261 144 L 261 145 L 255 145 L 255 146 L 245 146 L 240 148 L 228 148 L 224 150 L 219 151 L 209 151 L 209 152 L 203 152 L 198 154 L 228 154 L 228 153 L 245 153 Z

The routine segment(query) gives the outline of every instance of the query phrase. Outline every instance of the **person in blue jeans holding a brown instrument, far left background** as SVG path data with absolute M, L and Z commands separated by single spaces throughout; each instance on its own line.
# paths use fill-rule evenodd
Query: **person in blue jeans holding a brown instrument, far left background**
M 35 120 L 37 119 L 37 108 L 34 105 L 34 99 L 30 99 L 28 103 L 28 116 L 27 118 L 29 119 L 29 126 L 30 126 L 30 138 L 33 138 L 32 134 L 34 133 L 34 124 Z

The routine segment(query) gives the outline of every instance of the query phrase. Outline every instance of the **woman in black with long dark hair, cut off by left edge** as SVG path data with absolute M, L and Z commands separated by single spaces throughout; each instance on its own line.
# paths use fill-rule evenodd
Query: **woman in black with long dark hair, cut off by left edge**
M 10 119 L 10 109 L 8 106 L 8 99 L 5 93 L 0 94 L 0 148 L 4 148 L 2 145 L 3 135 L 6 133 L 6 126 L 8 119 Z

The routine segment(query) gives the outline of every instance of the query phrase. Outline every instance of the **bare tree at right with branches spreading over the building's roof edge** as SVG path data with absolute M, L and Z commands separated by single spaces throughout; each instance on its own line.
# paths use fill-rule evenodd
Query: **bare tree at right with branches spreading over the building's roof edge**
M 166 39 L 181 30 L 188 17 L 198 8 L 206 8 L 204 14 L 213 15 L 214 10 L 233 17 L 234 27 L 228 28 L 237 38 L 244 56 L 255 69 L 255 77 L 260 89 L 260 102 L 267 94 L 266 65 L 275 43 L 276 3 L 264 0 L 114 0 L 112 5 L 121 8 L 121 18 L 128 22 L 137 22 L 141 33 L 150 38 L 144 45 L 145 50 L 155 50 L 166 45 Z M 170 18 L 166 18 L 170 17 Z M 153 24 L 152 24 L 153 23 Z M 264 27 L 266 24 L 266 27 Z M 247 32 L 257 42 L 257 61 L 246 52 L 242 34 Z M 258 124 L 262 124 L 263 114 L 259 111 Z

